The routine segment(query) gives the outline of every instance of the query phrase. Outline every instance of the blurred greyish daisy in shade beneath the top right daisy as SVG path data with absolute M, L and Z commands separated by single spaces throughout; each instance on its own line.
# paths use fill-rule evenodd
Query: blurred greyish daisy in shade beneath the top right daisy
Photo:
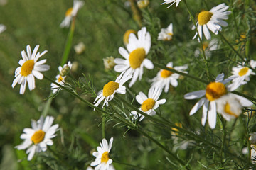
M 203 42 L 203 50 L 205 52 L 206 58 L 210 57 L 212 55 L 212 52 L 215 50 L 218 50 L 218 48 L 219 48 L 219 41 L 216 38 L 214 38 L 210 42 L 208 41 Z M 195 56 L 199 57 L 200 53 L 202 53 L 201 47 L 196 48 Z

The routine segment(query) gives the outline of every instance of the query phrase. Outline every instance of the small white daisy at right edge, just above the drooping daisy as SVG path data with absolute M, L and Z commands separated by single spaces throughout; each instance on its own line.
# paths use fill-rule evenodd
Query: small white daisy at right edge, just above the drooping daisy
M 232 91 L 235 89 L 238 89 L 239 86 L 247 84 L 247 81 L 250 81 L 250 75 L 255 75 L 255 72 L 252 72 L 252 69 L 255 69 L 256 67 L 256 61 L 250 60 L 250 69 L 249 67 L 244 66 L 245 63 L 242 65 L 238 65 L 238 67 L 232 68 L 232 76 L 230 76 L 230 79 L 232 80 L 232 84 L 228 85 Z

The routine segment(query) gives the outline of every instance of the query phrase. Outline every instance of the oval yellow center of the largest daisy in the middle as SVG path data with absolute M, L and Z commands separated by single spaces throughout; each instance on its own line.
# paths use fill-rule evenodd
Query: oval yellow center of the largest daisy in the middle
M 137 48 L 133 50 L 129 55 L 129 64 L 132 69 L 137 69 L 142 64 L 143 60 L 146 58 L 146 52 L 144 48 Z

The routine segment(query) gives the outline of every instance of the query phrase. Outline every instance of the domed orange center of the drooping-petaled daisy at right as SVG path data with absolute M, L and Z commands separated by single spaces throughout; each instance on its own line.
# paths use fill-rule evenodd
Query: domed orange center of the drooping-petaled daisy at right
M 220 82 L 211 82 L 206 87 L 206 98 L 209 101 L 214 101 L 227 93 L 225 85 Z

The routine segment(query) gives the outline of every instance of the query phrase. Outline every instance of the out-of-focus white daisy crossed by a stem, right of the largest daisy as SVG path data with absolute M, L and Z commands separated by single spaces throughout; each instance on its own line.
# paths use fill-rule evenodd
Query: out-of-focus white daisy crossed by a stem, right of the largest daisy
M 188 65 L 183 65 L 183 66 L 176 66 L 173 67 L 173 63 L 169 62 L 166 67 L 169 68 L 174 68 L 179 72 L 185 72 L 184 69 L 188 68 Z M 185 72 L 187 73 L 187 72 Z M 170 72 L 169 70 L 166 69 L 161 69 L 156 77 L 154 77 L 151 81 L 153 83 L 151 84 L 152 87 L 159 87 L 160 89 L 164 89 L 164 92 L 167 93 L 169 90 L 170 84 L 174 87 L 178 86 L 178 81 L 177 79 L 180 77 L 180 74 Z

